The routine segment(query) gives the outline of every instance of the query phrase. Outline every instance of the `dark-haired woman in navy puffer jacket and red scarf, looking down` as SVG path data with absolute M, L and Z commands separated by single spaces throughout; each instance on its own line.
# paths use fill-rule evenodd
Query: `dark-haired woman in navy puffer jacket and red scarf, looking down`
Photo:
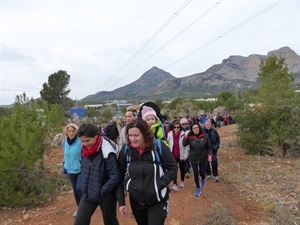
M 82 142 L 82 198 L 74 225 L 89 225 L 98 206 L 105 225 L 119 225 L 115 195 L 122 182 L 116 156 L 118 146 L 101 137 L 93 124 L 82 124 L 78 136 Z

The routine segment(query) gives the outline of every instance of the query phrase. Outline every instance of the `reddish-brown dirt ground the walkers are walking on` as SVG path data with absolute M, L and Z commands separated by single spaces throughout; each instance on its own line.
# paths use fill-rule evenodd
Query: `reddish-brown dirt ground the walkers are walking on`
M 236 145 L 235 131 L 236 125 L 218 129 L 221 137 L 218 154 L 220 182 L 207 181 L 201 196 L 195 197 L 193 178 L 186 179 L 184 188 L 170 194 L 170 210 L 166 225 L 272 224 L 271 211 L 266 209 L 266 206 L 272 206 L 276 202 L 283 205 L 287 203 L 288 214 L 293 215 L 296 221 L 300 221 L 297 218 L 300 202 L 299 160 L 244 155 Z M 46 165 L 59 172 L 61 161 L 60 147 L 49 149 L 45 156 Z M 276 168 L 281 171 L 279 174 L 275 172 Z M 298 174 L 298 177 L 290 180 L 292 185 L 286 182 L 278 187 L 278 183 L 289 176 L 283 171 L 293 173 L 289 179 L 295 174 Z M 62 191 L 39 207 L 1 210 L 0 224 L 70 225 L 74 222 L 72 217 L 74 210 L 72 191 Z M 128 210 L 130 211 L 129 205 Z M 118 219 L 120 224 L 136 224 L 130 215 L 123 217 L 118 213 Z M 103 224 L 100 209 L 97 209 L 92 217 L 91 225 L 96 224 Z

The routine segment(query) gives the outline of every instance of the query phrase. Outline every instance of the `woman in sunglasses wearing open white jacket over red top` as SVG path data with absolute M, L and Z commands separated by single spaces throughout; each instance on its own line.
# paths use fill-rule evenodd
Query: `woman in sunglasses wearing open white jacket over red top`
M 184 177 L 185 177 L 185 173 L 187 172 L 185 160 L 188 157 L 188 150 L 189 150 L 189 146 L 184 147 L 182 145 L 184 134 L 185 132 L 182 130 L 180 122 L 178 120 L 175 120 L 173 122 L 173 130 L 171 130 L 168 133 L 168 137 L 167 137 L 167 141 L 172 151 L 172 155 L 175 158 L 177 165 L 179 164 L 181 188 L 184 187 Z M 171 187 L 171 190 L 178 191 L 177 173 L 173 180 L 173 186 Z

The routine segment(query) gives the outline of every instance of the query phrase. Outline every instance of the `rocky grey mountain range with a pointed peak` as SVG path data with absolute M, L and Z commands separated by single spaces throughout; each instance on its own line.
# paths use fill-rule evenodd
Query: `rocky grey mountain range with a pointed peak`
M 248 90 L 258 85 L 259 65 L 269 56 L 280 56 L 300 83 L 300 56 L 289 47 L 270 51 L 267 55 L 253 54 L 248 57 L 229 56 L 222 63 L 211 66 L 205 72 L 176 78 L 172 74 L 152 67 L 138 80 L 114 91 L 100 91 L 81 102 L 110 100 L 155 100 L 174 97 L 204 97 L 223 91 Z

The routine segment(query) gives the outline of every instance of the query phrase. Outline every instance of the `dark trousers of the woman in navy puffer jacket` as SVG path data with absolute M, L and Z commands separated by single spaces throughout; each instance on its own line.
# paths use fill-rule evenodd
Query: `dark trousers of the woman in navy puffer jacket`
M 81 199 L 74 225 L 89 225 L 96 208 L 100 206 L 104 225 L 119 225 L 117 219 L 117 200 L 112 193 L 100 202 L 90 202 Z

